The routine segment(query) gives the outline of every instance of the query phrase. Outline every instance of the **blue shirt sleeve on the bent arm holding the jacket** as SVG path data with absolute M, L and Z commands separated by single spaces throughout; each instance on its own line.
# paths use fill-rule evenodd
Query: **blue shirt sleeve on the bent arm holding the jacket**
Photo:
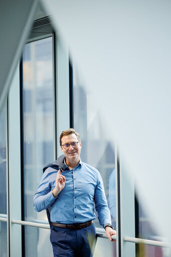
M 52 171 L 51 168 L 45 171 L 34 196 L 33 204 L 35 210 L 38 212 L 47 209 L 57 198 L 52 194 L 52 182 L 50 180 L 52 173 L 54 173 L 54 171 Z

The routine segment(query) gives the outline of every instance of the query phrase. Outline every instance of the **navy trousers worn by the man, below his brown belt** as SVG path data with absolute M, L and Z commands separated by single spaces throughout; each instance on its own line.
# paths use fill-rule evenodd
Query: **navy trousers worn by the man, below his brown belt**
M 54 257 L 92 257 L 96 243 L 94 223 L 82 229 L 51 227 Z

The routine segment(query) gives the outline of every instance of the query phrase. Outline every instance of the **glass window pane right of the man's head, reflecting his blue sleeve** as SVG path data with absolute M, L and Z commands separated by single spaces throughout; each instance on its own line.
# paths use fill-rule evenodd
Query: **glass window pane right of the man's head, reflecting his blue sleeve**
M 112 225 L 116 229 L 114 144 L 107 137 L 103 118 L 96 106 L 96 102 L 92 99 L 91 92 L 86 91 L 86 84 L 74 66 L 73 86 L 74 129 L 81 137 L 81 160 L 100 172 L 111 212 Z M 95 220 L 95 225 L 98 229 L 101 229 L 101 232 L 105 232 L 98 219 Z M 106 249 L 106 243 L 106 240 L 98 238 L 97 247 L 99 247 L 99 251 L 102 252 L 103 248 Z M 109 252 L 113 254 L 112 256 L 116 256 L 115 242 L 109 244 Z M 95 249 L 95 253 L 98 255 L 97 249 Z

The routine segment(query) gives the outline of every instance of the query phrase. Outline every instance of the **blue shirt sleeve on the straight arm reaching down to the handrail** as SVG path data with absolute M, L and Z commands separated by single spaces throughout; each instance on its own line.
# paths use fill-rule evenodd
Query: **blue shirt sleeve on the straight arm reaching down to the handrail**
M 103 181 L 99 172 L 97 173 L 97 185 L 95 189 L 94 202 L 100 225 L 104 227 L 107 223 L 111 224 L 110 211 L 107 205 Z

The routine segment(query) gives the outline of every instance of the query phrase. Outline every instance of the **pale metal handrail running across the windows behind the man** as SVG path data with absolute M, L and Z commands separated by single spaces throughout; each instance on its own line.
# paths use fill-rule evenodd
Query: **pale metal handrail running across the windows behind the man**
M 0 218 L 0 220 L 1 219 L 2 218 Z M 12 223 L 13 224 L 20 224 L 20 225 L 24 225 L 24 226 L 34 226 L 34 227 L 50 229 L 50 225 L 49 224 L 44 224 L 44 223 L 30 222 L 30 221 L 24 221 L 24 220 L 15 220 L 15 219 L 12 220 Z M 97 232 L 96 235 L 97 235 L 97 237 L 107 238 L 107 235 L 105 233 Z M 116 240 L 116 235 L 112 235 L 111 237 L 112 237 L 113 240 Z M 124 241 L 132 242 L 132 243 L 143 243 L 143 244 L 159 246 L 159 247 L 170 247 L 170 245 L 166 242 L 148 240 L 148 239 L 141 239 L 141 238 L 136 238 L 136 237 L 125 236 Z

